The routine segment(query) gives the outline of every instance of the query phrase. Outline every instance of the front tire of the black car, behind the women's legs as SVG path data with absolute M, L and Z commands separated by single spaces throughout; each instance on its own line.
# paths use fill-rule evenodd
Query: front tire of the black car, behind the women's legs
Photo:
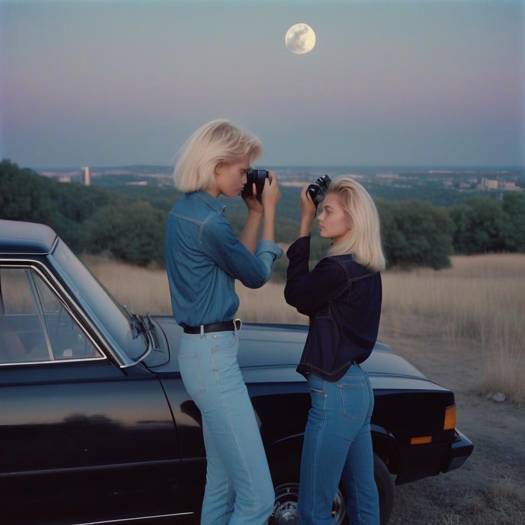
M 301 467 L 300 458 L 280 458 L 270 463 L 271 477 L 274 481 L 276 491 L 276 502 L 274 512 L 270 518 L 269 525 L 280 525 L 286 522 L 287 514 L 296 513 L 297 493 L 299 489 L 299 473 Z M 394 481 L 383 460 L 374 454 L 374 479 L 379 493 L 379 513 L 381 525 L 386 525 L 392 513 L 394 504 Z M 288 497 L 283 497 L 286 495 Z M 340 498 L 340 499 L 339 499 Z M 334 520 L 340 525 L 352 525 L 346 516 L 346 493 L 341 483 L 339 491 L 334 499 L 336 517 L 341 516 L 340 507 L 343 509 L 341 520 Z

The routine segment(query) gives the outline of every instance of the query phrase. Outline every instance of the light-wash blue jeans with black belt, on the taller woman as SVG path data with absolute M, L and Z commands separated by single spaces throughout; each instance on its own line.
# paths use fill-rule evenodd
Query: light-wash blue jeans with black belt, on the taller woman
M 237 363 L 237 330 L 183 333 L 178 365 L 202 414 L 202 525 L 264 525 L 275 492 L 253 405 Z

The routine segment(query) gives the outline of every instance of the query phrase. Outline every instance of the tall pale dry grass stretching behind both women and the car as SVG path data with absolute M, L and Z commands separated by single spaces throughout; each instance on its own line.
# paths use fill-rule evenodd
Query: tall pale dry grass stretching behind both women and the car
M 99 256 L 83 260 L 132 311 L 171 315 L 163 269 L 140 268 Z M 525 255 L 454 256 L 446 270 L 383 272 L 381 324 L 406 335 L 440 337 L 451 351 L 481 348 L 480 392 L 503 392 L 525 403 Z M 283 298 L 283 284 L 258 290 L 236 281 L 237 317 L 252 322 L 307 324 Z

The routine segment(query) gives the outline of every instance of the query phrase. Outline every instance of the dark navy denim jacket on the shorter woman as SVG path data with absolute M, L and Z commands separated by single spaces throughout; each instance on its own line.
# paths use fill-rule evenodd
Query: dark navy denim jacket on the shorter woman
M 310 317 L 297 371 L 338 381 L 352 361 L 362 363 L 372 353 L 381 315 L 381 274 L 350 254 L 324 257 L 309 271 L 310 236 L 298 238 L 286 255 L 286 302 Z

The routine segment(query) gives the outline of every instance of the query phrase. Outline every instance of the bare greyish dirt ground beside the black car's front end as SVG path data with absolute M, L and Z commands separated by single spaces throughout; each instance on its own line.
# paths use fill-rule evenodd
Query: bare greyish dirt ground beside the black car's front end
M 451 388 L 456 426 L 474 443 L 459 469 L 395 487 L 390 525 L 523 525 L 525 523 L 525 408 L 476 393 L 484 369 L 480 349 L 439 336 L 389 330 L 380 340 L 429 379 Z

